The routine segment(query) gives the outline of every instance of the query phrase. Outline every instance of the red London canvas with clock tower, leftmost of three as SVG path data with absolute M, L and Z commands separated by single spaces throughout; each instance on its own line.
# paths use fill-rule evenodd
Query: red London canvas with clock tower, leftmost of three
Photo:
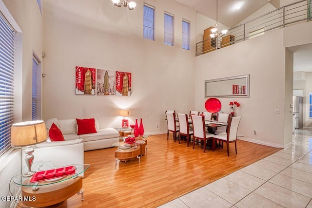
M 76 66 L 76 95 L 96 95 L 96 69 Z

